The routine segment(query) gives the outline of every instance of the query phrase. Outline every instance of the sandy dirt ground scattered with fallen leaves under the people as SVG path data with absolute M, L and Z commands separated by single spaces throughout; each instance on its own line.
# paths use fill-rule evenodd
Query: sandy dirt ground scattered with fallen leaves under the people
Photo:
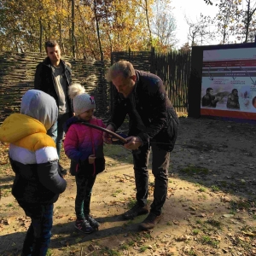
M 256 255 L 255 125 L 214 119 L 180 118 L 171 155 L 162 218 L 154 230 L 123 220 L 135 183 L 131 153 L 106 145 L 107 168 L 96 178 L 91 213 L 101 223 L 90 235 L 74 229 L 74 177 L 55 203 L 49 255 Z M 30 224 L 10 193 L 13 172 L 8 148 L 0 151 L 0 255 L 20 255 Z M 68 160 L 62 155 L 62 165 Z M 149 166 L 151 168 L 151 166 Z M 149 170 L 150 172 L 151 170 Z M 150 195 L 154 177 L 150 174 Z

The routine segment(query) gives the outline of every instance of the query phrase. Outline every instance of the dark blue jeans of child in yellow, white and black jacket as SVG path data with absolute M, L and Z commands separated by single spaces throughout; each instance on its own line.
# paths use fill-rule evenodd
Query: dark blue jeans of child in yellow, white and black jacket
M 22 256 L 45 256 L 49 247 L 53 204 L 43 206 L 30 206 L 20 204 L 20 207 L 31 218 L 31 224 L 26 231 L 23 243 Z

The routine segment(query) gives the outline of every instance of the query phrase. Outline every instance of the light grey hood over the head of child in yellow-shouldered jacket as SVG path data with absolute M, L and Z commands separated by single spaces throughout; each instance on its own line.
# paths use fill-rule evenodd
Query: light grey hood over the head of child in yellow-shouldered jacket
M 58 107 L 55 99 L 42 90 L 27 90 L 21 100 L 20 113 L 38 119 L 46 131 L 58 119 Z

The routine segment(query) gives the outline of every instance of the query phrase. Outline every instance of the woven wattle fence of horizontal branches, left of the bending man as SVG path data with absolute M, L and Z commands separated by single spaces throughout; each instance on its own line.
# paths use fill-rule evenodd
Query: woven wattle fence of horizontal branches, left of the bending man
M 40 53 L 0 53 L 0 123 L 10 113 L 20 111 L 20 99 L 33 88 L 36 67 L 44 58 L 45 54 Z M 110 61 L 73 60 L 65 56 L 63 59 L 72 65 L 73 82 L 83 84 L 95 96 L 96 114 L 105 116 L 110 101 L 105 69 Z

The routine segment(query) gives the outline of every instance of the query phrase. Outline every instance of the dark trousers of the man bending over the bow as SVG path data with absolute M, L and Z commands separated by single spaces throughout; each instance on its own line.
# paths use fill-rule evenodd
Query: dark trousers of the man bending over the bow
M 161 208 L 166 201 L 170 152 L 158 148 L 155 144 L 152 144 L 151 148 L 152 172 L 154 174 L 154 201 L 151 204 L 150 212 L 159 216 Z M 148 159 L 150 149 L 148 149 L 147 145 L 141 147 L 140 150 L 140 154 L 133 154 L 133 164 L 137 189 L 137 203 L 141 207 L 145 207 L 148 198 Z

